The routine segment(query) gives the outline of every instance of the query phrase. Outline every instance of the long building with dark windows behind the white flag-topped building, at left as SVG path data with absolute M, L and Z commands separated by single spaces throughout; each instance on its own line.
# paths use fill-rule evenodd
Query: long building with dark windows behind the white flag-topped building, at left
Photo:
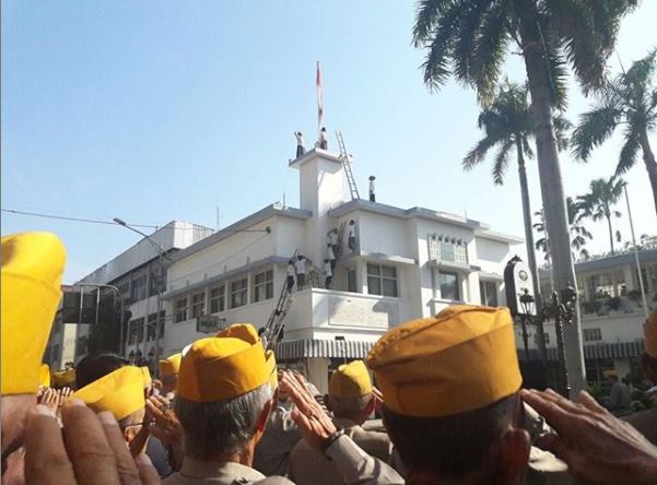
M 175 255 L 212 234 L 212 229 L 196 224 L 172 221 L 150 237 L 162 247 L 165 255 Z M 161 269 L 159 249 L 148 239 L 141 239 L 119 256 L 103 264 L 72 286 L 62 287 L 64 292 L 94 292 L 94 285 L 112 285 L 118 289 L 125 309 L 132 317 L 130 324 L 125 322 L 121 334 L 125 335 L 125 354 L 140 353 L 145 357 L 154 351 L 157 326 L 157 274 L 166 282 L 166 268 Z M 107 291 L 107 289 L 106 289 Z M 166 287 L 162 288 L 163 292 Z M 163 311 L 164 314 L 164 311 Z M 55 319 L 45 360 L 52 369 L 59 369 L 68 362 L 78 363 L 87 353 L 91 326 L 77 322 L 63 322 L 61 314 Z M 144 324 L 146 323 L 146 324 Z M 164 327 L 160 330 L 164 336 Z

